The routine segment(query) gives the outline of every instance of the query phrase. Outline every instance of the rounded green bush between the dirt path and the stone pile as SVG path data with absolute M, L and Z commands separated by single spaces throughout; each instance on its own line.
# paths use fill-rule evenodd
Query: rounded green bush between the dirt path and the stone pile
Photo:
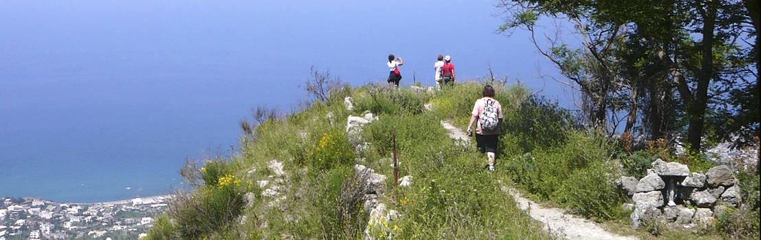
M 613 219 L 622 214 L 624 198 L 612 180 L 612 149 L 604 137 L 570 131 L 565 144 L 535 149 L 505 165 L 514 182 L 540 199 L 556 200 L 582 216 Z

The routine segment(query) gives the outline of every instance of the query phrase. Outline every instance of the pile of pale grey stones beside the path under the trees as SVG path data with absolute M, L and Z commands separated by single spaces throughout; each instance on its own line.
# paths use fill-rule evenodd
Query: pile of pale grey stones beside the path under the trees
M 712 223 L 724 205 L 738 207 L 740 188 L 728 166 L 715 166 L 705 174 L 689 172 L 686 165 L 655 160 L 648 175 L 636 180 L 619 178 L 618 185 L 634 201 L 632 226 L 665 219 L 680 225 Z

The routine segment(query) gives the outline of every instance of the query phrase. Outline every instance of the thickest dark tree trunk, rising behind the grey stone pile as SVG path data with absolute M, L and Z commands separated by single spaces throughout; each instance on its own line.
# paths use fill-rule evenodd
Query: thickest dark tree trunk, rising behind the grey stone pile
M 713 77 L 713 43 L 714 29 L 716 24 L 716 3 L 705 3 L 705 11 L 702 11 L 703 29 L 702 35 L 702 61 L 698 74 L 698 83 L 691 106 L 688 106 L 689 129 L 687 141 L 692 150 L 700 150 L 700 140 L 703 136 L 705 124 L 705 107 L 708 105 L 708 84 Z

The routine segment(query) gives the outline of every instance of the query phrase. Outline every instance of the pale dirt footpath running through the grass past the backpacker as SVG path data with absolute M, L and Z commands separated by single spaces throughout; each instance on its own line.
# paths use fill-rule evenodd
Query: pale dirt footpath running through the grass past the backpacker
M 441 122 L 441 126 L 447 129 L 449 137 L 457 142 L 469 144 L 468 137 L 460 128 L 449 122 Z M 521 197 L 521 193 L 508 185 L 502 185 L 502 191 L 511 194 L 521 210 L 527 211 L 531 218 L 544 224 L 544 229 L 551 235 L 565 239 L 637 239 L 631 236 L 616 235 L 607 232 L 591 221 L 571 214 L 565 214 L 557 208 L 545 208 L 527 198 Z

